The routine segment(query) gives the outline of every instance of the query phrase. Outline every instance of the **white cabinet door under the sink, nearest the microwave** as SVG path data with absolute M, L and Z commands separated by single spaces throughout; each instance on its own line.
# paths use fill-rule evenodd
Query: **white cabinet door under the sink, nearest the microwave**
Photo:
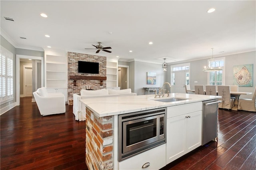
M 186 154 L 186 115 L 166 121 L 166 164 Z

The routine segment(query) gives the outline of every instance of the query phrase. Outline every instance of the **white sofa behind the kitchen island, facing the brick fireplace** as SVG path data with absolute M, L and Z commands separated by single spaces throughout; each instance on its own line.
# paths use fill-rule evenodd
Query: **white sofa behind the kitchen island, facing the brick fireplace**
M 82 106 L 79 99 L 98 98 L 98 97 L 118 97 L 118 96 L 136 96 L 136 93 L 132 93 L 131 89 L 112 90 L 112 89 L 100 89 L 100 90 L 81 90 L 81 95 L 73 95 L 73 113 L 77 121 L 85 121 L 86 112 L 85 107 Z

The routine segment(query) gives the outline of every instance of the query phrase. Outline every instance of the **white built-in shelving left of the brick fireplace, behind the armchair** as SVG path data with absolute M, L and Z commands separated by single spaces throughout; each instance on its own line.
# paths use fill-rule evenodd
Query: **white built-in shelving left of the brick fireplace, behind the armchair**
M 63 93 L 65 95 L 65 100 L 67 101 L 68 91 L 67 91 L 67 57 L 66 53 L 45 51 L 44 55 L 45 62 L 45 87 L 48 89 L 49 93 L 53 91 L 58 91 L 58 93 Z

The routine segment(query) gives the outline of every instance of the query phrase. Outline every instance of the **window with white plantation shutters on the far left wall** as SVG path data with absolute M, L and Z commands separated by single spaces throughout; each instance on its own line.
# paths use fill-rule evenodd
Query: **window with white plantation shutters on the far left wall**
M 0 51 L 0 102 L 13 99 L 13 54 L 1 46 Z

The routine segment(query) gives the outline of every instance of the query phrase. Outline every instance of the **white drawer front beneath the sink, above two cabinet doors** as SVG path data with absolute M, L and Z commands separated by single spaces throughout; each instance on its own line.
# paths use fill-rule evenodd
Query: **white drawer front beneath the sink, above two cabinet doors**
M 167 107 L 167 118 L 185 115 L 188 113 L 201 111 L 201 110 L 202 110 L 201 101 L 196 103 L 188 103 L 185 105 L 170 106 L 170 107 Z

